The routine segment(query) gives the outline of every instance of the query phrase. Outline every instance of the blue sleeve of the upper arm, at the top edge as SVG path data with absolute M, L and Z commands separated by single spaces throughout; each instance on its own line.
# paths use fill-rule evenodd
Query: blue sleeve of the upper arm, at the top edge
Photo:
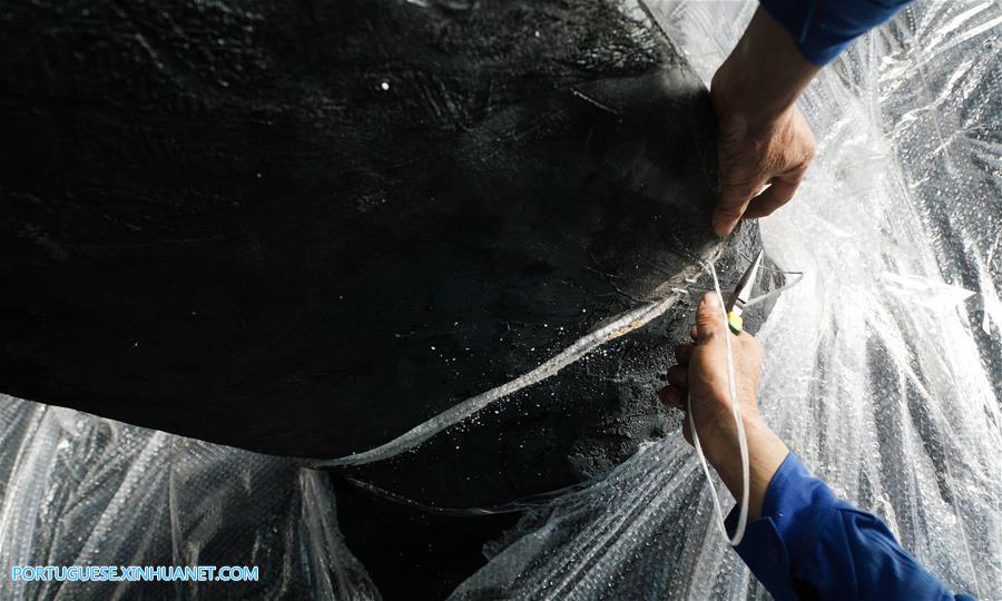
M 804 58 L 825 65 L 854 39 L 887 21 L 911 0 L 760 0 L 793 36 Z

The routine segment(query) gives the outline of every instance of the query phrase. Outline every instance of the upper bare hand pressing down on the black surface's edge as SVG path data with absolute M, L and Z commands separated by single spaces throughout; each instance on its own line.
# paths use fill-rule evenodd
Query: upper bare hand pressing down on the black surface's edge
M 741 218 L 769 215 L 793 198 L 814 158 L 814 134 L 796 106 L 821 68 L 762 8 L 714 75 L 720 197 L 714 231 L 726 236 Z M 763 190 L 763 188 L 766 188 Z

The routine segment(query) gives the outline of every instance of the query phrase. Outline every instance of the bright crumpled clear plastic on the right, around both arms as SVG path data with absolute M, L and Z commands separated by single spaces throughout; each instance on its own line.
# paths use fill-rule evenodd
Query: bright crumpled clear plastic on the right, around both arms
M 709 82 L 757 3 L 647 6 Z M 817 157 L 760 221 L 766 253 L 807 273 L 758 333 L 766 420 L 983 599 L 1002 590 L 1000 24 L 998 2 L 922 1 L 861 38 L 805 93 Z M 455 599 L 768 597 L 677 431 L 511 540 Z

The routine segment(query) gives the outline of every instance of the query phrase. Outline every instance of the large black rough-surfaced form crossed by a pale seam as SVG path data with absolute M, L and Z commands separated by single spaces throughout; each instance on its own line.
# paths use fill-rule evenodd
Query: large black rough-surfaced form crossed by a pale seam
M 337 457 L 688 287 L 724 246 L 708 95 L 618 2 L 4 16 L 8 394 Z M 477 452 L 355 475 L 463 508 L 601 473 L 664 432 L 661 348 L 623 339 L 499 403 L 501 444 L 446 436 Z

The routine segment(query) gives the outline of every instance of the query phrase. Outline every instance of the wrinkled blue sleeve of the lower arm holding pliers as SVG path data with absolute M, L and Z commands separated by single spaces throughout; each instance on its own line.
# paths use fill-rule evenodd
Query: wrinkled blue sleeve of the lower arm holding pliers
M 737 508 L 727 518 L 734 532 Z M 954 597 L 878 518 L 835 496 L 790 453 L 773 476 L 762 516 L 735 548 L 777 601 L 973 599 Z

